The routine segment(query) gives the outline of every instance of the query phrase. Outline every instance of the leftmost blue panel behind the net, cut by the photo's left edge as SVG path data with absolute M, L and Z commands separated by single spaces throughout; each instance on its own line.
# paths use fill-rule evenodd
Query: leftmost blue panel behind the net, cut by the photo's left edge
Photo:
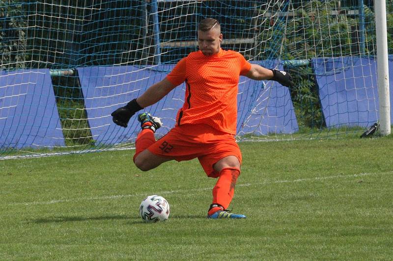
M 0 149 L 65 146 L 49 69 L 0 72 Z

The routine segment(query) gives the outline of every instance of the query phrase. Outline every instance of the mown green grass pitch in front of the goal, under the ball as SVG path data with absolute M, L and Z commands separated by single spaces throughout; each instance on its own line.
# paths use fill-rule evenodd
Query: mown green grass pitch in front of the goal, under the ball
M 1 260 L 392 260 L 393 139 L 242 142 L 230 208 L 197 160 L 149 172 L 134 151 L 0 161 Z M 169 220 L 139 204 L 164 196 Z

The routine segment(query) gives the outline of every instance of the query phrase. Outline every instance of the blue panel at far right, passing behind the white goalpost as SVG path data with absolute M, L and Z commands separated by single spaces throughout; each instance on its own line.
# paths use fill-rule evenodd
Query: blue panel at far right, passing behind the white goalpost
M 377 64 L 373 58 L 313 58 L 327 127 L 368 127 L 378 121 Z M 393 60 L 389 61 L 393 75 Z M 393 78 L 390 78 L 393 86 Z M 393 88 L 390 88 L 390 100 Z M 391 121 L 393 112 L 391 110 Z

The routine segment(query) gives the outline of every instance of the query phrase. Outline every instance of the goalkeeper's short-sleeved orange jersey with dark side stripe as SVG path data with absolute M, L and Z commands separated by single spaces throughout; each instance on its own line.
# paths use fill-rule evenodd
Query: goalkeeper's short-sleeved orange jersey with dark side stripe
M 240 75 L 251 64 L 238 52 L 220 50 L 206 56 L 191 52 L 181 59 L 167 79 L 175 86 L 186 83 L 183 107 L 176 125 L 207 124 L 217 130 L 236 134 L 237 93 Z

